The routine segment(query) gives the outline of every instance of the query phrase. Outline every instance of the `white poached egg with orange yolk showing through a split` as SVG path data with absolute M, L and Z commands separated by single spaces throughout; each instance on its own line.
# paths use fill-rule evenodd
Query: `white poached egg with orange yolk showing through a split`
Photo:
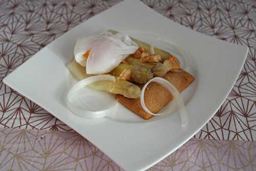
M 108 73 L 117 67 L 138 45 L 129 35 L 102 32 L 79 37 L 75 44 L 75 60 L 86 66 L 87 74 Z

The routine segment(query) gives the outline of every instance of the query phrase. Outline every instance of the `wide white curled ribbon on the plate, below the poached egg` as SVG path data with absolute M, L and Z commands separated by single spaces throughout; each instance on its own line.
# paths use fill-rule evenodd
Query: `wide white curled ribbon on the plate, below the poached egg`
M 85 89 L 87 85 L 98 81 L 115 82 L 115 77 L 111 75 L 92 76 L 79 81 L 70 89 L 70 91 L 68 92 L 67 104 L 70 110 L 75 115 L 79 117 L 89 118 L 103 117 L 117 104 L 117 101 L 113 97 L 111 97 L 110 93 L 107 92 L 99 92 L 90 88 L 88 88 L 90 92 L 88 92 L 88 90 L 86 92 L 80 92 L 81 90 Z M 80 100 L 79 98 L 82 98 L 82 100 Z M 108 107 L 102 109 L 102 105 L 97 104 L 97 101 L 101 100 L 100 98 L 110 98 L 109 100 L 105 101 L 106 103 L 108 103 Z M 88 104 L 88 102 L 91 103 L 91 105 Z M 92 107 L 92 105 L 94 105 L 94 107 Z

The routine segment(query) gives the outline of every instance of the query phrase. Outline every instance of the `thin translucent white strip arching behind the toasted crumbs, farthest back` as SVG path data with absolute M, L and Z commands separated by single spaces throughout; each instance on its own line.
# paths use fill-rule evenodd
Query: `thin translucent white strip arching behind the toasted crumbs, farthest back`
M 184 50 L 182 50 L 181 48 L 177 47 L 175 44 L 173 44 L 172 42 L 169 42 L 169 41 L 167 41 L 167 40 L 158 38 L 157 41 L 163 42 L 164 45 L 167 45 L 167 46 L 166 46 L 167 48 L 171 48 L 171 49 L 173 49 L 174 51 L 176 51 L 176 52 L 179 54 L 179 56 L 184 60 L 184 63 L 185 63 L 185 64 L 184 64 L 184 66 L 182 66 L 182 68 L 183 68 L 185 71 L 189 72 L 189 69 L 190 69 L 190 68 L 189 68 L 188 57 L 187 57 L 187 54 L 186 54 L 186 52 L 185 52 Z

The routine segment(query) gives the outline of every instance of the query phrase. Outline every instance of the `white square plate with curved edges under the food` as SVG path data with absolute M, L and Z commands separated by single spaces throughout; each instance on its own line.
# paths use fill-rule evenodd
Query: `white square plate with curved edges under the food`
M 106 29 L 130 30 L 134 37 L 140 36 L 138 32 L 152 33 L 187 52 L 195 81 L 182 93 L 189 119 L 186 127 L 181 127 L 178 113 L 145 122 L 118 105 L 114 116 L 124 120 L 92 120 L 81 119 L 67 108 L 71 74 L 66 64 L 73 58 L 76 39 Z M 150 41 L 146 36 L 137 38 Z M 140 1 L 127 0 L 63 34 L 9 74 L 4 83 L 69 125 L 125 170 L 142 170 L 179 148 L 210 120 L 238 78 L 247 51 L 247 47 L 180 26 Z

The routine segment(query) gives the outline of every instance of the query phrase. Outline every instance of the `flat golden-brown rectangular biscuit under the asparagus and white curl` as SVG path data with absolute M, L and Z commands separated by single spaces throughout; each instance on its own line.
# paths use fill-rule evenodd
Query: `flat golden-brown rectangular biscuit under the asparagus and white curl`
M 163 78 L 172 83 L 180 92 L 194 80 L 194 77 L 184 70 L 180 72 L 169 71 L 164 75 Z M 140 88 L 143 87 L 143 85 L 139 86 Z M 115 98 L 119 103 L 132 110 L 143 119 L 150 119 L 153 116 L 144 111 L 140 105 L 140 99 L 129 99 L 120 94 L 117 94 Z M 160 111 L 172 99 L 172 94 L 170 94 L 168 90 L 158 83 L 150 83 L 145 90 L 145 105 L 153 113 Z

